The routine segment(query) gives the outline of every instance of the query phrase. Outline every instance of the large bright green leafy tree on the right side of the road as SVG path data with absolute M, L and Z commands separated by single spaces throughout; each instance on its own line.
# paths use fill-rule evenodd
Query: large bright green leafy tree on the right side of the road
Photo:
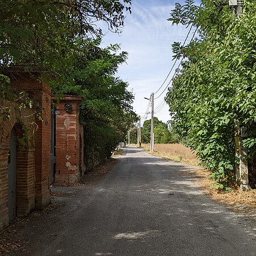
M 185 59 L 167 94 L 172 127 L 212 170 L 220 189 L 229 190 L 234 180 L 235 120 L 247 126 L 243 144 L 250 157 L 255 154 L 255 11 L 254 1 L 246 1 L 236 17 L 226 1 L 204 0 L 200 7 L 187 1 L 169 19 L 194 24 L 199 33 L 182 49 L 173 46 L 174 57 Z

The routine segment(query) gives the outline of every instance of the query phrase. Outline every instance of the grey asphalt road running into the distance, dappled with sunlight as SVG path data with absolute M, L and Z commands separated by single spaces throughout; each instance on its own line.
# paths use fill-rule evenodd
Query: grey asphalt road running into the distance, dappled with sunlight
M 19 233 L 31 242 L 17 255 L 256 255 L 250 220 L 208 199 L 191 168 L 127 147 L 98 182 L 54 188 L 65 196 Z

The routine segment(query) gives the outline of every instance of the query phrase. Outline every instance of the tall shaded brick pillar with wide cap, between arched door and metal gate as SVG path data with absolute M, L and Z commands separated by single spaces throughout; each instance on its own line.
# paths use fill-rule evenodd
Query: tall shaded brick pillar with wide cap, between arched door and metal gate
M 11 73 L 13 85 L 30 93 L 38 106 L 43 121 L 37 117 L 35 137 L 35 207 L 43 209 L 51 202 L 49 190 L 50 150 L 51 150 L 51 89 L 38 81 L 40 72 Z

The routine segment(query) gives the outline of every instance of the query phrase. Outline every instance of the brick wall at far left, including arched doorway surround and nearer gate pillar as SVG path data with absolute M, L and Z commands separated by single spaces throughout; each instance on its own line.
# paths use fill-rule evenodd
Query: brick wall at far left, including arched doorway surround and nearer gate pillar
M 11 111 L 10 121 L 3 121 L 0 116 L 0 229 L 9 224 L 8 209 L 8 158 L 10 152 L 9 139 L 14 128 L 16 136 L 23 137 L 22 126 L 34 123 L 36 137 L 28 133 L 30 142 L 27 142 L 23 151 L 17 151 L 16 156 L 16 215 L 26 216 L 32 209 L 42 209 L 50 203 L 49 170 L 51 148 L 51 90 L 46 84 L 38 81 L 38 73 L 10 72 L 12 84 L 30 93 L 34 100 L 34 108 L 40 110 L 43 122 L 35 118 L 34 109 L 15 111 L 15 102 L 4 102 Z M 31 120 L 32 118 L 32 120 Z

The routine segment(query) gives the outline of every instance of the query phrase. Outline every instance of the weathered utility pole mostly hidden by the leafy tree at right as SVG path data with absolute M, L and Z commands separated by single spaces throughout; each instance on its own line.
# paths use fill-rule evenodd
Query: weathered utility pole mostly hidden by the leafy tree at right
M 233 7 L 234 14 L 242 13 L 243 0 L 229 0 Z M 236 142 L 236 180 L 243 191 L 249 190 L 248 163 L 246 160 L 247 148 L 243 147 L 243 139 L 247 137 L 247 128 L 241 125 L 240 120 L 235 121 L 235 142 Z

